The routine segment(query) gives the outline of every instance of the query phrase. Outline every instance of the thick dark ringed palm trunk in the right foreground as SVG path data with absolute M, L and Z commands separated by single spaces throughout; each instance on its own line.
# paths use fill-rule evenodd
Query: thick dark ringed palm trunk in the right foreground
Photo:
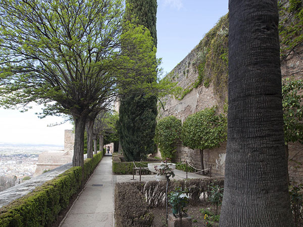
M 220 226 L 293 226 L 276 0 L 229 1 L 228 136 Z

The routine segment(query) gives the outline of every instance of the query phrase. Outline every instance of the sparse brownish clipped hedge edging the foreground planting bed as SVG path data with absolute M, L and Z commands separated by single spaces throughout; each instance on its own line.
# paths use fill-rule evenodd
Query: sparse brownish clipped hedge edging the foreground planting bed
M 224 178 L 186 179 L 170 181 L 168 192 L 176 187 L 188 190 L 191 204 L 211 193 L 210 185 L 223 187 Z M 116 183 L 115 187 L 115 221 L 118 227 L 151 226 L 153 216 L 149 209 L 165 206 L 166 181 Z

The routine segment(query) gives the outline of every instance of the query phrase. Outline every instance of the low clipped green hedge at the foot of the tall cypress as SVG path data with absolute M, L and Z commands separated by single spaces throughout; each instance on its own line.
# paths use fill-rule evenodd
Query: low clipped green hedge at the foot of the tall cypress
M 113 173 L 114 174 L 120 174 L 120 175 L 132 175 L 133 174 L 133 162 L 132 161 L 122 161 L 121 159 L 123 156 L 118 153 L 113 153 Z M 137 167 L 147 167 L 147 163 L 150 162 L 159 162 L 161 160 L 157 159 L 150 159 L 150 161 L 140 161 L 135 162 Z M 145 170 L 142 168 L 141 174 L 150 174 L 148 170 Z

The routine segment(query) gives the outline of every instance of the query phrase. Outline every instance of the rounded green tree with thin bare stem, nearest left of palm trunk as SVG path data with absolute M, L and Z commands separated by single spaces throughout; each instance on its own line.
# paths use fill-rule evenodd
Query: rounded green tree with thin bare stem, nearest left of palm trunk
M 204 169 L 203 150 L 220 147 L 220 143 L 226 141 L 227 120 L 223 114 L 216 114 L 216 110 L 216 107 L 205 108 L 188 116 L 182 125 L 183 145 L 200 150 L 202 169 Z

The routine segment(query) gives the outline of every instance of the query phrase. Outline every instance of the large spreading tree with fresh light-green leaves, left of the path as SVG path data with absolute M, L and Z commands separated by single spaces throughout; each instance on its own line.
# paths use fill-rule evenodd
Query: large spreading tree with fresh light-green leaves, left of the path
M 0 4 L 0 104 L 26 108 L 36 102 L 44 104 L 42 117 L 71 115 L 74 166 L 83 166 L 88 116 L 118 94 L 117 85 L 124 85 L 124 92 L 129 86 L 146 90 L 146 75 L 156 77 L 153 40 L 143 27 L 121 23 L 123 11 L 120 0 Z M 133 46 L 140 51 L 133 52 Z M 132 77 L 138 69 L 144 80 Z

